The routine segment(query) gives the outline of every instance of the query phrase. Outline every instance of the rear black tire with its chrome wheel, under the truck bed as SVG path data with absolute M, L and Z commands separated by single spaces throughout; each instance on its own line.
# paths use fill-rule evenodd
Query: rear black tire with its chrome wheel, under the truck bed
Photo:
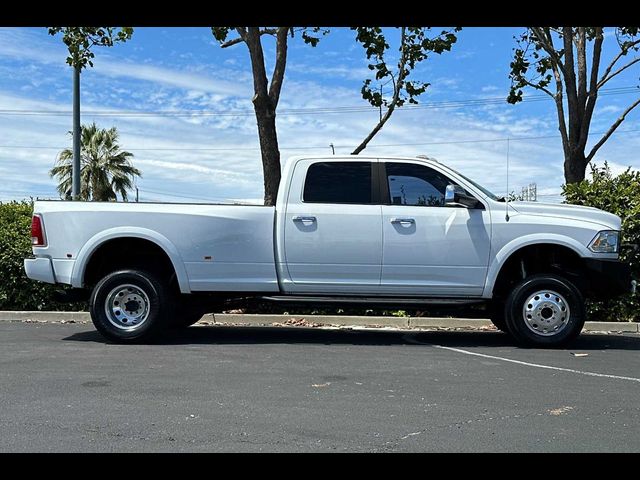
M 118 310 L 120 306 L 124 308 Z M 105 276 L 93 289 L 89 303 L 96 329 L 118 343 L 156 339 L 167 329 L 173 306 L 168 286 L 141 270 L 120 270 Z

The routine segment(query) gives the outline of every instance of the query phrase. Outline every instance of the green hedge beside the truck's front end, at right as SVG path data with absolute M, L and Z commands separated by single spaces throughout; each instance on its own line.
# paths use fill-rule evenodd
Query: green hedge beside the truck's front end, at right
M 640 171 L 628 168 L 613 176 L 609 165 L 591 166 L 591 179 L 565 185 L 566 203 L 596 207 L 622 218 L 622 244 L 640 244 Z M 623 248 L 621 259 L 629 262 L 632 275 L 640 279 L 640 250 Z M 589 303 L 589 317 L 598 321 L 640 321 L 640 298 L 625 295 Z

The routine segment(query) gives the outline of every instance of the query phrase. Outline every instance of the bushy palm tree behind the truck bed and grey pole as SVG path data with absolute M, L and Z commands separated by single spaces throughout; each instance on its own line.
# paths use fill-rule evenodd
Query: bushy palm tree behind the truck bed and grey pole
M 120 194 L 127 201 L 127 191 L 133 188 L 135 177 L 142 176 L 130 158 L 133 154 L 120 150 L 116 127 L 98 128 L 95 123 L 82 125 L 80 133 L 80 195 L 79 200 L 117 200 Z M 73 151 L 65 148 L 58 155 L 49 175 L 58 179 L 58 193 L 71 198 Z

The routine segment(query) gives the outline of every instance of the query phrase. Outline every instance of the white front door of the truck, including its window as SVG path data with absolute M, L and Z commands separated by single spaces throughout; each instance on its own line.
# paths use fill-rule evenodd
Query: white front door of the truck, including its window
M 381 291 L 434 296 L 481 295 L 491 222 L 484 208 L 444 206 L 448 184 L 434 168 L 383 162 Z

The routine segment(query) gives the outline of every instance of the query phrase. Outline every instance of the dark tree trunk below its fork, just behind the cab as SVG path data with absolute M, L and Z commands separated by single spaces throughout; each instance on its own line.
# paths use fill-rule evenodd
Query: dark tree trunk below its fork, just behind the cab
M 264 176 L 264 204 L 275 205 L 280 185 L 280 150 L 276 132 L 276 112 L 269 98 L 254 101 L 260 152 L 262 154 L 262 174 Z

